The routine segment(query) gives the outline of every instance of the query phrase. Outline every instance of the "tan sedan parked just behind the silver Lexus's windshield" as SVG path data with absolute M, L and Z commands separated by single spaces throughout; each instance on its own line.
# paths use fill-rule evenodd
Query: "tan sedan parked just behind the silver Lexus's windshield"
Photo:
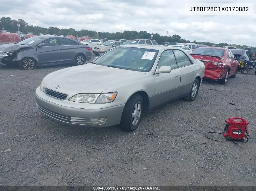
M 107 52 L 109 49 L 114 48 L 116 46 L 120 46 L 122 44 L 123 42 L 121 41 L 108 40 L 100 45 L 93 46 L 91 51 L 95 54 L 95 56 L 99 56 Z

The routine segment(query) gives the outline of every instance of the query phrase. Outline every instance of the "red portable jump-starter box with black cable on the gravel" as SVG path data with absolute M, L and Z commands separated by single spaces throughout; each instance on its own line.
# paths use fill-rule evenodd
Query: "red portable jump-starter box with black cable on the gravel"
M 235 144 L 238 144 L 238 142 L 248 142 L 249 131 L 247 125 L 249 124 L 249 122 L 246 121 L 246 119 L 241 117 L 230 117 L 228 118 L 228 120 L 225 119 L 225 122 L 227 124 L 224 128 L 224 132 L 207 132 L 204 134 L 205 137 L 209 138 L 206 136 L 206 134 L 208 133 L 223 133 L 223 136 L 226 138 L 226 141 L 232 141 Z M 244 138 L 246 138 L 246 141 L 244 141 Z M 209 139 L 219 141 L 212 138 Z

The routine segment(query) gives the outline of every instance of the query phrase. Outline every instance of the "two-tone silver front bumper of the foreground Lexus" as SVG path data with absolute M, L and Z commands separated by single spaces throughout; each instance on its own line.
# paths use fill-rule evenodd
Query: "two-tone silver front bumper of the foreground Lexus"
M 106 108 L 97 108 L 95 109 L 84 109 L 78 107 L 70 107 L 68 100 L 58 100 L 53 97 L 46 95 L 38 87 L 35 92 L 35 101 L 37 109 L 62 123 L 75 126 L 84 126 L 84 127 L 108 127 L 113 125 L 120 124 L 121 116 L 125 104 L 106 107 Z M 85 104 L 94 104 L 94 103 L 77 103 L 78 105 L 84 107 Z M 96 105 L 96 104 L 95 104 Z M 101 105 L 102 107 L 102 105 Z M 104 123 L 102 124 L 93 124 L 92 120 L 97 118 L 104 118 Z

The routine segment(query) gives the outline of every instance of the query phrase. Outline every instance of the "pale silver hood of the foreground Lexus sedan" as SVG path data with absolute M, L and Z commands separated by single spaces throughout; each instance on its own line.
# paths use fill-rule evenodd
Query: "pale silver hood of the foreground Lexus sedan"
M 52 72 L 44 78 L 43 84 L 45 88 L 73 96 L 79 93 L 101 93 L 116 84 L 145 74 L 88 63 Z M 56 89 L 57 85 L 60 88 Z

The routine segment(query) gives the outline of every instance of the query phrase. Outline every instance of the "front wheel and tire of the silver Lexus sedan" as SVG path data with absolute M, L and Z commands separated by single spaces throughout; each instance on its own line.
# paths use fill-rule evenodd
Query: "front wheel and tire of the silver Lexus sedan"
M 138 109 L 137 112 L 135 111 Z M 132 132 L 138 128 L 143 112 L 143 98 L 141 95 L 135 94 L 129 98 L 125 104 L 122 113 L 120 127 L 121 129 Z M 133 117 L 135 115 L 135 117 Z

